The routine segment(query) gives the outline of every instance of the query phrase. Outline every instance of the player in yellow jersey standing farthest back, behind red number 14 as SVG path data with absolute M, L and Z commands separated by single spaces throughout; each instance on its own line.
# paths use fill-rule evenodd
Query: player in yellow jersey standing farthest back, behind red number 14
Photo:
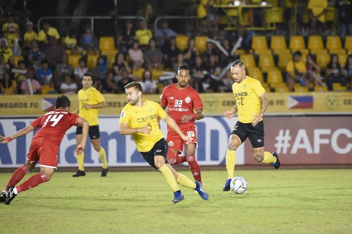
M 83 88 L 78 91 L 79 117 L 86 119 L 89 123 L 89 136 L 94 149 L 98 152 L 99 158 L 103 163 L 102 177 L 108 174 L 108 163 L 104 148 L 100 145 L 100 132 L 98 122 L 98 109 L 106 107 L 106 102 L 102 94 L 96 90 L 93 85 L 93 75 L 90 72 L 83 74 Z M 82 128 L 76 129 L 76 143 L 78 144 L 82 138 Z M 78 170 L 73 177 L 85 176 L 84 172 L 84 152 L 77 156 Z

